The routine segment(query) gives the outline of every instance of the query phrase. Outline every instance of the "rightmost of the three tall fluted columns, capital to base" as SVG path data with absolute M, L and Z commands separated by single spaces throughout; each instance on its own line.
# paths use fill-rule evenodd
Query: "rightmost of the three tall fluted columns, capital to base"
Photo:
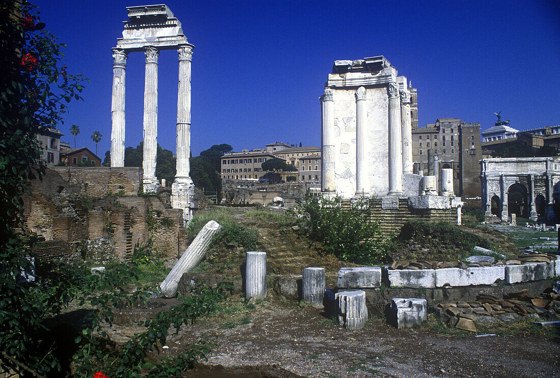
M 193 46 L 179 48 L 179 90 L 177 95 L 176 183 L 190 183 L 190 64 Z

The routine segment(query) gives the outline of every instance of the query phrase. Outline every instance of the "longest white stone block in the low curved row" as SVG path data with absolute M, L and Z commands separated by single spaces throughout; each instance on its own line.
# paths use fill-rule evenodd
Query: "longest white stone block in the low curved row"
M 505 269 L 500 267 L 436 269 L 436 287 L 490 285 L 505 279 Z

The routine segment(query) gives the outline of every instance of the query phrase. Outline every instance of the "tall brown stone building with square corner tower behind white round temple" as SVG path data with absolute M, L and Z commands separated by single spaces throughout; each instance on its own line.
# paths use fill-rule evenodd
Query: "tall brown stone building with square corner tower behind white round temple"
M 434 124 L 413 128 L 412 160 L 415 173 L 423 171 L 424 175 L 433 174 L 428 155 L 435 157 L 440 169 L 453 169 L 456 195 L 480 196 L 480 123 L 462 122 L 458 118 L 438 118 Z

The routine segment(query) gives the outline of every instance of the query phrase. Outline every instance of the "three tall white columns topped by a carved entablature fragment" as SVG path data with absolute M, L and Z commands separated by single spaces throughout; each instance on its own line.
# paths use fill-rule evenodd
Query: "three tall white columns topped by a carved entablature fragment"
M 123 38 L 113 48 L 113 98 L 111 101 L 111 167 L 124 166 L 125 68 L 128 54 L 146 54 L 144 82 L 144 192 L 155 192 L 157 153 L 157 59 L 160 50 L 179 53 L 177 99 L 177 172 L 172 184 L 171 206 L 182 208 L 185 221 L 192 217 L 193 181 L 189 177 L 190 155 L 190 64 L 194 46 L 183 34 L 181 23 L 165 4 L 127 7 Z

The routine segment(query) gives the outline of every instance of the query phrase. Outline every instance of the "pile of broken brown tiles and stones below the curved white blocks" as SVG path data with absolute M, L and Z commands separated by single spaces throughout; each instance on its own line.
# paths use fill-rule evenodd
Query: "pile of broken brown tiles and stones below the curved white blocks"
M 555 319 L 560 315 L 560 295 L 550 291 L 531 296 L 526 289 L 505 294 L 503 299 L 480 294 L 476 301 L 440 303 L 436 306 L 436 314 L 451 328 L 477 332 L 475 321 L 495 324 L 524 317 Z

